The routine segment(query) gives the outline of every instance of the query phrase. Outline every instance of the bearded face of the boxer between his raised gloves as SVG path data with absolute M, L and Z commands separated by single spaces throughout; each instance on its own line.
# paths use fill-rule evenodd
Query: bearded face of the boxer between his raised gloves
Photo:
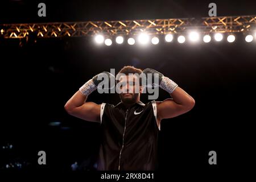
M 121 93 L 119 97 L 125 104 L 134 104 L 139 100 L 139 93 L 141 93 L 141 86 L 139 86 L 139 78 L 135 75 L 125 75 L 119 78 L 121 84 Z

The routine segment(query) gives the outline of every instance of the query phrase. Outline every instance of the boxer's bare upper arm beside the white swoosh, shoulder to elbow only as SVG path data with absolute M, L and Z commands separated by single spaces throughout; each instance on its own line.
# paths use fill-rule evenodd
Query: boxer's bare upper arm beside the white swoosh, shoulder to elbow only
M 183 105 L 177 104 L 171 98 L 168 98 L 162 102 L 157 102 L 158 118 L 168 119 L 174 118 L 178 115 L 186 113 L 188 110 Z

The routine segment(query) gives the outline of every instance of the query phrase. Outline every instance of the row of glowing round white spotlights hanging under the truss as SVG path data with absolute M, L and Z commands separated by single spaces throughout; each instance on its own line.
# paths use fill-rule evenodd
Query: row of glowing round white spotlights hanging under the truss
M 174 39 L 174 36 L 172 34 L 167 34 L 165 36 L 166 42 L 172 42 L 173 39 Z M 199 42 L 200 35 L 199 35 L 198 32 L 191 32 L 188 35 L 188 39 L 191 42 Z M 214 39 L 217 42 L 220 42 L 221 40 L 223 40 L 223 35 L 221 33 L 216 33 L 216 34 L 214 34 Z M 256 32 L 255 32 L 255 39 L 256 39 Z M 211 40 L 212 40 L 212 37 L 210 35 L 204 35 L 203 41 L 205 43 L 209 43 Z M 232 43 L 232 42 L 234 42 L 236 40 L 236 36 L 229 35 L 227 37 L 227 40 L 228 40 L 228 42 Z M 105 43 L 106 46 L 111 46 L 112 45 L 112 40 L 109 39 L 109 38 L 108 39 L 104 39 L 103 35 L 96 35 L 95 36 L 95 41 L 98 44 Z M 148 36 L 145 33 L 142 33 L 142 34 L 138 35 L 137 41 L 138 41 L 139 44 L 147 44 L 150 41 L 150 36 Z M 185 36 L 183 36 L 183 35 L 178 36 L 177 42 L 183 44 L 185 41 L 186 41 Z M 246 35 L 245 41 L 246 42 L 252 42 L 253 41 L 253 35 Z M 122 36 L 117 36 L 117 38 L 115 38 L 115 42 L 117 44 L 122 44 L 124 42 L 124 38 Z M 129 38 L 129 39 L 127 39 L 127 43 L 129 45 L 134 45 L 135 44 L 135 39 L 134 38 Z M 151 43 L 152 44 L 158 44 L 159 43 L 159 38 L 156 37 L 156 36 L 153 37 L 151 39 Z

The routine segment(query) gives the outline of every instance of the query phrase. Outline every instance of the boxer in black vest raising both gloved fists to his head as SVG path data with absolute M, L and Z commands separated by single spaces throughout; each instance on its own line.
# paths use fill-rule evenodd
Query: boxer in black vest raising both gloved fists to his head
M 102 72 L 87 81 L 65 104 L 65 110 L 85 121 L 101 125 L 101 144 L 97 169 L 106 170 L 155 170 L 158 167 L 158 135 L 162 119 L 187 113 L 195 100 L 174 81 L 154 69 L 126 66 L 119 72 L 117 84 L 121 85 L 117 105 L 86 102 L 90 93 L 100 84 L 99 77 L 115 76 Z M 134 76 L 129 76 L 133 74 Z M 152 75 L 151 86 L 166 90 L 171 96 L 164 101 L 143 104 L 140 95 L 150 84 L 142 84 L 141 75 Z M 136 89 L 137 86 L 137 89 Z M 135 92 L 135 91 L 138 92 Z

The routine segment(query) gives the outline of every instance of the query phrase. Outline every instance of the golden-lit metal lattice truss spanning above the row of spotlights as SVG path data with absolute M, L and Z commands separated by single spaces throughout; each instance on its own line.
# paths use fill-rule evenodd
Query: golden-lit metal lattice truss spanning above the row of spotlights
M 60 38 L 63 36 L 93 36 L 103 34 L 137 35 L 147 32 L 149 35 L 185 34 L 197 30 L 204 34 L 211 32 L 247 32 L 256 29 L 256 15 L 220 16 L 207 18 L 178 18 L 150 20 L 115 20 L 63 23 L 20 23 L 0 24 L 0 35 L 4 38 L 26 38 L 30 34 L 38 38 Z

